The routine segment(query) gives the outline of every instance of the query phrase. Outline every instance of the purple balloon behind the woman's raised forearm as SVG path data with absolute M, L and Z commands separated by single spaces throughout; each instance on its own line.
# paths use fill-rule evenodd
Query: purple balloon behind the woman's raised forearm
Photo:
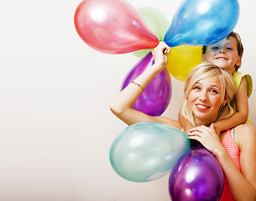
M 122 90 L 153 64 L 154 58 L 150 52 L 130 70 L 123 81 Z M 170 103 L 171 91 L 170 74 L 165 69 L 149 83 L 144 92 L 138 97 L 133 109 L 142 111 L 149 116 L 160 116 Z

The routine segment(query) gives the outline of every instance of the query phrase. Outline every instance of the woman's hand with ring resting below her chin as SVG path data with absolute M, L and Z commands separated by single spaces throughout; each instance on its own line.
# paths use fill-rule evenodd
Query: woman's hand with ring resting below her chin
M 217 136 L 213 123 L 210 127 L 197 126 L 190 131 L 188 137 L 191 140 L 200 142 L 202 146 L 206 147 L 206 149 L 212 152 L 215 156 L 220 155 L 225 150 L 220 138 Z

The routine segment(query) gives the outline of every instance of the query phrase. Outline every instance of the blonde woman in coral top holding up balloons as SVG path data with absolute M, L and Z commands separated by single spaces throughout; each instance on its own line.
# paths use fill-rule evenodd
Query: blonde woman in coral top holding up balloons
M 133 80 L 112 102 L 112 112 L 128 125 L 157 121 L 181 129 L 179 121 L 165 116 L 148 116 L 133 109 L 144 88 L 165 69 L 170 47 L 164 42 L 152 50 L 154 64 Z M 191 70 L 185 82 L 182 115 L 195 126 L 189 138 L 201 142 L 222 165 L 225 174 L 221 200 L 256 200 L 256 131 L 241 125 L 218 136 L 213 123 L 232 115 L 229 101 L 234 94 L 230 76 L 214 64 L 203 63 Z

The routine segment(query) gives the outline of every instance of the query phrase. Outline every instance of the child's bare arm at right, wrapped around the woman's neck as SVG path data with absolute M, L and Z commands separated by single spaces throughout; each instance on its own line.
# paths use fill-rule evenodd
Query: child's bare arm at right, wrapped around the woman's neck
M 238 93 L 236 95 L 236 113 L 225 120 L 217 121 L 214 124 L 214 128 L 219 134 L 221 131 L 225 131 L 228 128 L 238 126 L 239 124 L 246 123 L 248 119 L 248 97 L 246 90 L 246 80 L 243 77 L 238 87 Z

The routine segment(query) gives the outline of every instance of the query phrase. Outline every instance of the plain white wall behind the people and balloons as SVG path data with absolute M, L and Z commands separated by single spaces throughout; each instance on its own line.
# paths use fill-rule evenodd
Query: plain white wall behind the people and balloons
M 129 2 L 135 8 L 158 8 L 171 21 L 181 1 Z M 126 125 L 109 105 L 138 58 L 87 46 L 74 26 L 79 3 L 0 2 L 0 200 L 170 200 L 168 175 L 133 183 L 112 170 L 109 148 Z M 253 80 L 255 6 L 240 1 L 235 28 L 245 49 L 241 71 Z M 165 116 L 177 119 L 183 82 L 172 78 L 172 86 Z M 255 100 L 254 89 L 249 99 L 254 126 Z

